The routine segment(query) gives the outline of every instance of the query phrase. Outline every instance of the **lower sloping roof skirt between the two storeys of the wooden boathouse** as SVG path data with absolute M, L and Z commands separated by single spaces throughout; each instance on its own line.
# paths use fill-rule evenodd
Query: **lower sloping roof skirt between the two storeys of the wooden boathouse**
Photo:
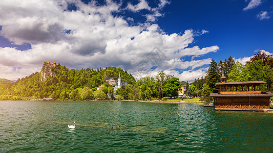
M 262 92 L 261 94 L 218 94 L 211 93 L 211 97 L 271 97 L 273 93 L 271 92 Z

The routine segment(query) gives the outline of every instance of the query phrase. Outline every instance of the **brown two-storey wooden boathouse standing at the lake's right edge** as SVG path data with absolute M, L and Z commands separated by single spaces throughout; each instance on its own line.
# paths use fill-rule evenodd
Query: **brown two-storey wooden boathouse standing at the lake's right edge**
M 224 74 L 220 79 L 218 93 L 211 93 L 215 110 L 263 111 L 269 108 L 271 92 L 261 92 L 264 81 L 226 82 Z

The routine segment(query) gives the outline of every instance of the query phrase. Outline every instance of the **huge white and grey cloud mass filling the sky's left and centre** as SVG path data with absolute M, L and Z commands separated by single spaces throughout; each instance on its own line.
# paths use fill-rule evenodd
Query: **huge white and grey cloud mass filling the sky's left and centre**
M 211 59 L 183 61 L 181 57 L 217 52 L 219 47 L 189 47 L 197 36 L 194 30 L 166 34 L 158 24 L 151 23 L 162 16 L 160 9 L 169 3 L 161 0 L 156 8 L 151 8 L 146 1 L 137 5 L 129 3 L 126 9 L 133 12 L 149 10 L 144 14 L 146 21 L 131 25 L 132 16 L 112 15 L 113 12 L 122 14 L 124 8 L 110 0 L 105 5 L 73 1 L 77 9 L 72 11 L 68 10 L 70 3 L 61 0 L 1 1 L 1 35 L 14 44 L 30 43 L 31 49 L 22 52 L 0 47 L 0 78 L 22 78 L 39 71 L 44 61 L 77 69 L 116 66 L 138 79 L 154 76 L 158 70 L 176 75 L 181 81 L 200 78 L 206 71 L 200 67 L 209 64 Z

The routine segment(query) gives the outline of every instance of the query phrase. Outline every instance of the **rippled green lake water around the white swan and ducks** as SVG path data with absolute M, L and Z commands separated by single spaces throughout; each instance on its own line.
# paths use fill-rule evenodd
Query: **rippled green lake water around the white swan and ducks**
M 272 150 L 273 113 L 136 101 L 0 101 L 0 152 Z

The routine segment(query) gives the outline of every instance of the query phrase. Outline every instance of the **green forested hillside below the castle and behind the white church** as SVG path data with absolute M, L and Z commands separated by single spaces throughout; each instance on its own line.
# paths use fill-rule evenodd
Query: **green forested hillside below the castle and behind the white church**
M 44 62 L 45 64 L 46 62 Z M 0 83 L 0 99 L 20 99 L 26 97 L 32 98 L 44 98 L 52 97 L 54 99 L 66 99 L 69 98 L 69 94 L 74 90 L 77 91 L 78 98 L 84 87 L 97 90 L 97 87 L 104 85 L 110 87 L 107 82 L 104 82 L 106 78 L 118 79 L 120 77 L 122 81 L 128 82 L 128 84 L 135 84 L 135 79 L 127 71 L 123 71 L 116 67 L 106 67 L 104 69 L 71 69 L 66 66 L 59 66 L 58 69 L 51 67 L 56 72 L 56 77 L 48 77 L 45 82 L 41 82 L 41 72 L 36 72 L 28 77 L 18 79 L 16 82 L 1 82 Z

